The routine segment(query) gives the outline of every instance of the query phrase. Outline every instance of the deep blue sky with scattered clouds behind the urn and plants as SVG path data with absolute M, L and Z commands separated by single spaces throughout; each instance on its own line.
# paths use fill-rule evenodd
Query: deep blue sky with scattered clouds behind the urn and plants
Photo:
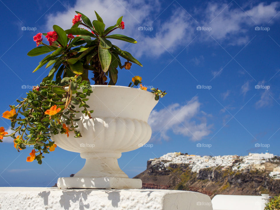
M 1 1 L 0 7 L 5 20 L 2 112 L 47 75 L 48 69 L 31 73 L 43 57 L 26 55 L 36 46 L 33 36 L 51 31 L 53 24 L 70 28 L 75 10 L 94 20 L 96 10 L 107 26 L 123 15 L 125 29 L 118 33 L 138 41 L 115 42 L 143 64 L 120 70 L 117 85 L 127 86 L 140 75 L 143 84 L 168 93 L 149 118 L 152 147 L 123 153 L 119 159 L 129 177 L 145 170 L 150 158 L 174 151 L 213 156 L 268 149 L 279 154 L 279 1 L 50 0 L 28 7 L 24 1 Z M 0 122 L 9 129 L 8 120 Z M 42 165 L 26 162 L 31 148 L 18 153 L 10 139 L 4 139 L 0 151 L 0 186 L 52 186 L 85 162 L 78 153 L 60 148 L 46 155 Z

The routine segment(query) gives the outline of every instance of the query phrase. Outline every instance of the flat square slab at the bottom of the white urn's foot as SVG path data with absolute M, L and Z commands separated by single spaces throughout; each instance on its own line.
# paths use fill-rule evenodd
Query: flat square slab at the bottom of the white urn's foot
M 58 188 L 103 188 L 135 189 L 142 187 L 141 179 L 122 177 L 62 177 L 57 180 Z

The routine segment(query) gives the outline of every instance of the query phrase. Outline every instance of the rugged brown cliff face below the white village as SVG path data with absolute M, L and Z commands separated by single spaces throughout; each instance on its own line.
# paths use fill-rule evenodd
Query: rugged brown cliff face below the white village
M 144 189 L 189 190 L 201 192 L 211 198 L 226 195 L 276 195 L 280 193 L 280 180 L 271 179 L 265 171 L 241 173 L 229 169 L 207 168 L 192 172 L 188 164 L 151 165 L 134 178 L 140 178 Z

